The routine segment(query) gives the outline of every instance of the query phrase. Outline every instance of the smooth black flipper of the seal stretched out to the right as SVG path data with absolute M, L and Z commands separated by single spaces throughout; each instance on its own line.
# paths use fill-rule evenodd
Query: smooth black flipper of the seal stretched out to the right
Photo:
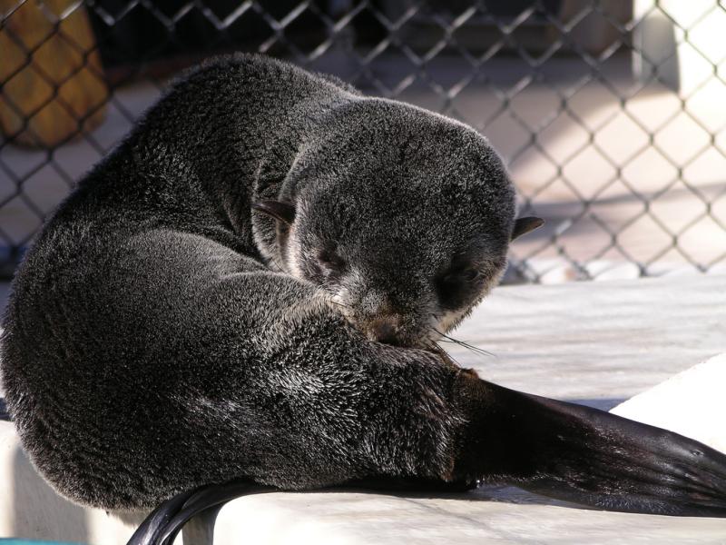
M 603 510 L 726 517 L 726 455 L 608 412 L 462 372 L 454 475 Z

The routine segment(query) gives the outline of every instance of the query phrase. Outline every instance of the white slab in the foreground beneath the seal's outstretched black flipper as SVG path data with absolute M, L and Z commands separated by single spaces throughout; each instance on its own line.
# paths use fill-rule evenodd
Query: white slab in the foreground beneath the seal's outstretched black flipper
M 726 522 L 606 513 L 478 491 L 448 497 L 274 493 L 240 498 L 217 516 L 214 545 L 720 544 Z

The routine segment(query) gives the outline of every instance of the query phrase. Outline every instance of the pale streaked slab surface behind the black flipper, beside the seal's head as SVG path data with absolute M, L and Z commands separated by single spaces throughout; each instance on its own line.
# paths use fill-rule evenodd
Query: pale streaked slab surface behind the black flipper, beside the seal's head
M 500 287 L 453 336 L 493 354 L 443 344 L 486 380 L 624 401 L 726 352 L 726 276 Z

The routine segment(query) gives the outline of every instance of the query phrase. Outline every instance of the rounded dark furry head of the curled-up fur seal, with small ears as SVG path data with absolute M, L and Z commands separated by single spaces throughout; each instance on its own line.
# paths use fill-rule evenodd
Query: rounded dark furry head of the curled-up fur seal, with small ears
M 369 339 L 430 346 L 498 282 L 515 190 L 486 138 L 385 99 L 332 110 L 302 148 L 280 200 L 277 256 Z

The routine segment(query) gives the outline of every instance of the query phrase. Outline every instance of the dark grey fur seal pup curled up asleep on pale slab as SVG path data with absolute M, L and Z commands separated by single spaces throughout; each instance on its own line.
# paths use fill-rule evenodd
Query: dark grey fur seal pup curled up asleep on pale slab
M 465 124 L 260 56 L 203 64 L 16 273 L 2 376 L 25 450 L 106 509 L 238 478 L 399 479 L 726 515 L 723 454 L 483 381 L 432 345 L 539 223 L 515 220 Z

